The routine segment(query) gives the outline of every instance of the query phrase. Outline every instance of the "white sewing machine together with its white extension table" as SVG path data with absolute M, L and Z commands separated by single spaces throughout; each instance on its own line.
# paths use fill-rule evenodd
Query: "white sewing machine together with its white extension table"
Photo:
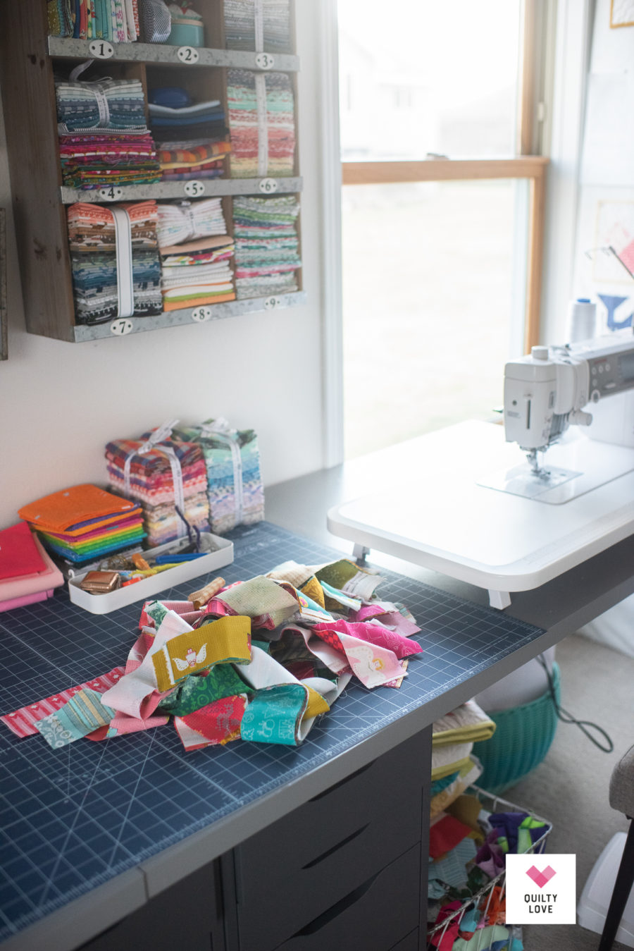
M 335 506 L 330 531 L 357 556 L 377 549 L 486 588 L 496 608 L 634 534 L 631 330 L 509 361 L 505 425 L 394 447 L 388 489 Z

